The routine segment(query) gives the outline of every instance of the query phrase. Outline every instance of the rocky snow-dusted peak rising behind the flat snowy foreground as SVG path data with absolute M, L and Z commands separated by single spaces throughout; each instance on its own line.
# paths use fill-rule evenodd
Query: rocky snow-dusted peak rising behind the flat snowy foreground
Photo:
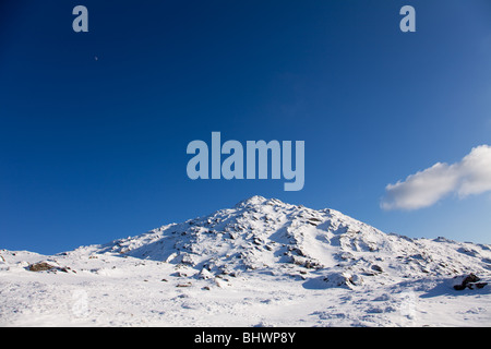
M 360 281 L 376 276 L 385 282 L 491 270 L 490 245 L 386 234 L 334 209 L 315 210 L 261 196 L 74 253 L 88 251 L 181 264 L 213 275 L 336 270 Z

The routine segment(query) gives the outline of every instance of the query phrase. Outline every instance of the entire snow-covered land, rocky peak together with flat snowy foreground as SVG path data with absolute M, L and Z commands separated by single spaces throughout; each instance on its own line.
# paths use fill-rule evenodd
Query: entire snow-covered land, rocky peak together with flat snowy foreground
M 442 320 L 462 325 L 468 317 L 474 325 L 482 318 L 488 322 L 482 325 L 491 324 L 489 286 L 452 288 L 462 275 L 489 278 L 490 245 L 387 234 L 333 209 L 315 210 L 261 196 L 106 244 L 53 256 L 2 250 L 0 256 L 0 292 L 8 296 L 0 301 L 3 324 L 25 323 L 19 308 L 36 314 L 45 309 L 27 300 L 39 285 L 85 294 L 85 316 L 75 316 L 68 305 L 62 311 L 62 317 L 75 324 L 91 320 L 96 325 L 139 325 L 144 316 L 152 325 L 181 325 L 183 320 L 203 325 L 196 318 L 208 313 L 220 314 L 218 323 L 204 324 L 218 326 L 431 325 Z M 37 284 L 26 286 L 20 292 L 25 298 L 19 298 L 26 282 Z M 137 318 L 128 318 L 125 306 L 120 309 L 118 302 L 104 305 L 101 292 L 121 304 L 133 304 Z M 97 306 L 89 306 L 89 294 Z M 458 310 L 470 308 L 474 315 L 465 310 L 465 316 L 451 321 L 445 315 L 448 310 L 432 317 L 428 306 L 415 305 L 435 299 L 452 304 L 451 299 L 460 294 L 467 303 L 455 302 Z M 144 304 L 134 305 L 142 298 Z M 163 310 L 156 315 L 148 303 Z M 236 316 L 231 309 L 237 305 L 231 304 L 242 304 L 241 316 Z M 280 304 L 291 311 L 285 313 Z M 120 317 L 115 316 L 116 310 Z

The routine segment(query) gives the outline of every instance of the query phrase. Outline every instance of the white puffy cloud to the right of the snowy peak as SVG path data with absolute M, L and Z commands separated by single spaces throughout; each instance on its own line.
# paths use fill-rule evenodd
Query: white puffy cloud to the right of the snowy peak
M 382 198 L 383 209 L 418 209 L 435 204 L 448 194 L 458 197 L 491 191 L 491 146 L 472 148 L 453 165 L 438 163 L 410 174 L 405 181 L 388 184 Z

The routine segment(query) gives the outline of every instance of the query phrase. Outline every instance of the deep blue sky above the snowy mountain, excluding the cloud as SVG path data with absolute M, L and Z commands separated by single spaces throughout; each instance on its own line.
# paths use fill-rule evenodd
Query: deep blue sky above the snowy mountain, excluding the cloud
M 489 0 L 1 1 L 0 248 L 104 243 L 255 194 L 491 243 L 489 193 L 380 208 L 388 183 L 491 144 L 490 19 Z M 306 141 L 304 189 L 191 181 L 187 145 L 212 131 Z

